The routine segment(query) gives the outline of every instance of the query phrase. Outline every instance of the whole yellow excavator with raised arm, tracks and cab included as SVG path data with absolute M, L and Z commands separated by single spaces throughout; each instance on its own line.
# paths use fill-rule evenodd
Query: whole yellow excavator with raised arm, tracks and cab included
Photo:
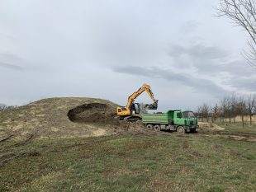
M 158 100 L 154 98 L 154 93 L 151 91 L 151 87 L 148 84 L 143 84 L 140 89 L 135 91 L 128 97 L 126 106 L 117 107 L 117 116 L 119 119 L 124 119 L 127 121 L 137 121 L 141 119 L 140 116 L 140 104 L 134 103 L 135 99 L 140 96 L 143 92 L 148 93 L 149 97 L 152 99 L 153 104 L 146 104 L 145 110 L 157 110 Z

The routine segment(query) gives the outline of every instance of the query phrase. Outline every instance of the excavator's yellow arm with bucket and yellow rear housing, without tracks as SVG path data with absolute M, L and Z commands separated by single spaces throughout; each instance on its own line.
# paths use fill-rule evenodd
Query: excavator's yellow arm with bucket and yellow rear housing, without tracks
M 148 93 L 149 97 L 152 99 L 153 104 L 145 105 L 146 109 L 148 110 L 157 110 L 158 108 L 158 100 L 154 98 L 154 93 L 151 91 L 151 87 L 148 84 L 143 84 L 140 89 L 135 91 L 128 97 L 128 101 L 126 107 L 118 107 L 117 108 L 117 115 L 119 116 L 129 116 L 131 115 L 131 107 L 134 104 L 135 99 L 140 96 L 143 92 Z

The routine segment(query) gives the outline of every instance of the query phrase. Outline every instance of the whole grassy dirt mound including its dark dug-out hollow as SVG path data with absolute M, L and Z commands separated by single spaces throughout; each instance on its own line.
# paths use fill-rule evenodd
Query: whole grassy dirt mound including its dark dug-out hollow
M 105 126 L 77 122 L 94 123 L 97 119 L 106 121 L 116 107 L 111 101 L 88 97 L 58 97 L 35 101 L 0 112 L 0 139 L 26 140 L 31 134 L 34 138 L 95 136 L 102 133 Z M 109 128 L 105 129 L 104 134 L 112 133 Z

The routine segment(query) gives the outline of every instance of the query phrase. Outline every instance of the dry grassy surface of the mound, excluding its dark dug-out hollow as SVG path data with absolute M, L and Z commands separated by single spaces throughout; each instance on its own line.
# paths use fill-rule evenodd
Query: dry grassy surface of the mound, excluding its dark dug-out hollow
M 36 133 L 36 137 L 47 138 L 93 136 L 97 128 L 74 124 L 67 116 L 74 107 L 91 102 L 105 103 L 116 109 L 116 105 L 110 101 L 87 97 L 40 100 L 15 110 L 0 112 L 0 138 L 10 133 L 14 133 L 17 139 L 24 139 L 31 133 Z

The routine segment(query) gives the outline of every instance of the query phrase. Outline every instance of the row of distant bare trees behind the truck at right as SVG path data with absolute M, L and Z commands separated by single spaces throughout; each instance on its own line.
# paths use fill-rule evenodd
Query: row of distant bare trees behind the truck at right
M 249 123 L 253 124 L 253 115 L 256 114 L 256 95 L 224 96 L 215 105 L 206 103 L 197 107 L 197 117 L 206 122 L 234 122 L 236 117 L 241 118 L 244 127 L 244 117 L 249 116 Z

